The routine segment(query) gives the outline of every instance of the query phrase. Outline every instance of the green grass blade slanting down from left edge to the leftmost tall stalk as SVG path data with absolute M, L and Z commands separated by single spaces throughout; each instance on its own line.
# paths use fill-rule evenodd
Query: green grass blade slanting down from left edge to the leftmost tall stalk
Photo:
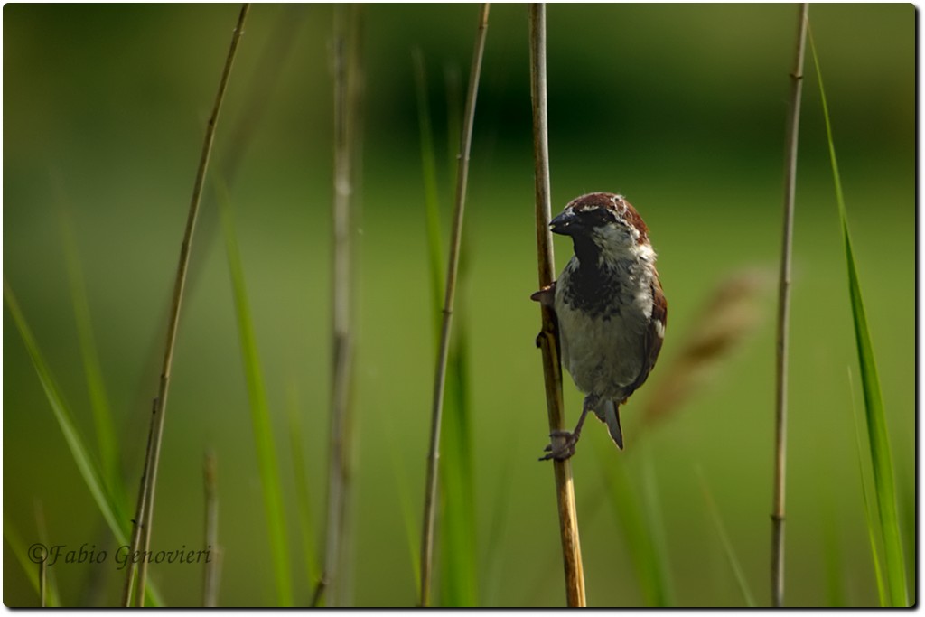
M 22 315 L 22 310 L 19 308 L 19 302 L 17 302 L 16 296 L 13 294 L 13 290 L 9 287 L 6 279 L 4 279 L 3 283 L 3 295 L 6 308 L 9 310 L 10 315 L 13 317 L 13 321 L 16 323 L 19 336 L 22 337 L 22 342 L 26 345 L 26 351 L 29 352 L 32 366 L 39 376 L 39 381 L 42 384 L 45 397 L 48 399 L 49 404 L 51 404 L 52 412 L 55 413 L 58 427 L 61 428 L 61 433 L 68 443 L 68 450 L 70 450 L 74 463 L 77 464 L 80 476 L 83 478 L 83 481 L 87 483 L 90 494 L 93 496 L 93 501 L 96 502 L 96 506 L 100 509 L 100 513 L 103 514 L 106 524 L 109 525 L 118 543 L 126 544 L 127 531 L 120 523 L 120 521 L 125 520 L 125 517 L 117 513 L 120 512 L 119 506 L 106 491 L 105 483 L 96 463 L 90 455 L 90 450 L 87 449 L 83 438 L 80 437 L 80 431 L 78 431 L 77 426 L 74 425 L 73 416 L 70 413 L 68 403 L 64 400 L 61 390 L 58 389 L 55 378 L 52 376 L 51 369 L 48 367 L 48 364 L 45 363 L 42 352 L 39 350 L 38 342 L 35 340 L 35 337 L 32 336 L 29 324 L 26 323 L 26 318 Z

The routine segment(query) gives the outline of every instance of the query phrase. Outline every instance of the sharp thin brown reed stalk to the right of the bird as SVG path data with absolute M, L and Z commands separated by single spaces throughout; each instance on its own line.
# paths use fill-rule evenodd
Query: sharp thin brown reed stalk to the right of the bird
M 787 337 L 790 329 L 790 270 L 794 240 L 796 197 L 796 152 L 800 128 L 800 101 L 803 93 L 803 58 L 807 41 L 808 3 L 799 7 L 796 28 L 796 59 L 790 74 L 790 117 L 784 165 L 783 248 L 777 304 L 777 401 L 774 429 L 774 502 L 771 512 L 771 604 L 783 606 L 783 521 L 787 463 Z

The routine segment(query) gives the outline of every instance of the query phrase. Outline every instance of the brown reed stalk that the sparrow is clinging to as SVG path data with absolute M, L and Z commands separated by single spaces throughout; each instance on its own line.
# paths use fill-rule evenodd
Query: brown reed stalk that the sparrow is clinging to
M 536 165 L 536 261 L 540 289 L 552 283 L 554 261 L 549 219 L 552 216 L 549 196 L 549 123 L 547 119 L 546 80 L 546 6 L 530 5 L 530 82 L 533 99 L 533 147 Z M 543 376 L 549 432 L 561 431 L 563 423 L 562 368 L 559 336 L 552 309 L 540 303 L 542 330 L 536 343 L 543 352 Z M 562 564 L 565 568 L 565 597 L 570 607 L 586 606 L 585 573 L 578 538 L 578 513 L 575 511 L 572 463 L 553 460 L 556 477 L 556 501 L 559 505 L 559 531 Z

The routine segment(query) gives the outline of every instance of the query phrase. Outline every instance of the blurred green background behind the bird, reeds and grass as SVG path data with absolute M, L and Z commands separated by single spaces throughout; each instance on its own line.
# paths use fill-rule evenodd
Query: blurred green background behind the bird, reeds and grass
M 93 443 L 60 211 L 86 276 L 96 342 L 134 495 L 156 393 L 166 310 L 206 117 L 238 6 L 4 7 L 4 278 Z M 416 550 L 434 364 L 412 49 L 425 57 L 444 220 L 452 156 L 445 77 L 464 80 L 476 6 L 364 7 L 362 216 L 355 404 L 355 603 L 416 601 Z M 915 574 L 915 7 L 810 9 L 894 449 Z M 287 407 L 309 452 L 322 546 L 330 356 L 331 6 L 253 6 L 219 122 L 213 169 L 228 179 L 264 365 L 290 524 L 296 601 L 311 586 L 296 524 Z M 601 464 L 657 478 L 674 601 L 742 598 L 709 518 L 707 478 L 747 581 L 768 600 L 773 293 L 764 318 L 708 389 L 657 429 L 639 410 L 710 291 L 747 266 L 775 272 L 783 136 L 796 33 L 792 5 L 549 6 L 549 146 L 554 210 L 587 191 L 625 194 L 646 218 L 670 303 L 647 386 L 625 407 L 627 449 L 592 423 L 573 459 L 590 605 L 639 605 Z M 288 49 L 274 45 L 291 40 Z M 270 50 L 270 51 L 267 51 Z M 471 354 L 476 555 L 485 605 L 564 601 L 548 442 L 533 228 L 525 6 L 493 6 L 458 302 Z M 261 57 L 275 58 L 267 71 Z M 278 71 L 277 77 L 272 75 Z M 797 185 L 790 372 L 787 603 L 875 605 L 852 406 L 862 404 L 844 253 L 808 58 Z M 452 105 L 462 105 L 462 94 Z M 262 111 L 254 116 L 254 102 Z M 451 115 L 450 115 L 451 116 Z M 456 130 L 454 128 L 453 130 Z M 203 452 L 216 451 L 219 601 L 271 605 L 274 586 L 228 268 L 207 198 L 179 328 L 154 513 L 154 547 L 203 543 Z M 447 231 L 447 228 L 444 228 Z M 557 264 L 571 252 L 556 240 Z M 4 525 L 37 541 L 112 546 L 22 340 L 4 310 Z M 849 370 L 853 383 L 849 380 Z M 566 376 L 567 425 L 581 397 Z M 294 401 L 294 402 L 293 402 Z M 598 456 L 597 450 L 606 452 Z M 405 514 L 413 537 L 406 537 Z M 502 512 L 500 515 L 498 512 Z M 498 520 L 496 520 L 498 519 Z M 494 526 L 493 526 L 494 525 Z M 489 529 L 501 544 L 487 546 Z M 411 547 L 411 549 L 409 549 Z M 487 557 L 486 557 L 487 560 Z M 4 602 L 36 595 L 4 545 Z M 117 602 L 115 565 L 53 568 L 68 605 Z M 153 566 L 166 602 L 197 604 L 197 566 Z M 914 593 L 914 592 L 912 592 Z M 911 598 L 914 601 L 914 597 Z

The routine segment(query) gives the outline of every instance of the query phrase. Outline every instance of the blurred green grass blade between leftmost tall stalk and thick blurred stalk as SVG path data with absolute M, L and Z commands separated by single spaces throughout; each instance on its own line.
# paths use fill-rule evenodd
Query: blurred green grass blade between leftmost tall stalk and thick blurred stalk
M 273 441 L 270 412 L 266 402 L 264 376 L 257 354 L 257 341 L 253 333 L 251 308 L 247 301 L 247 290 L 244 287 L 244 272 L 241 267 L 238 238 L 234 230 L 231 207 L 228 204 L 228 194 L 224 186 L 216 183 L 216 187 L 222 229 L 225 233 L 228 253 L 228 273 L 231 277 L 235 314 L 238 319 L 241 363 L 244 366 L 244 376 L 251 406 L 251 423 L 254 446 L 257 452 L 257 466 L 260 471 L 261 486 L 264 489 L 266 531 L 270 541 L 270 554 L 277 588 L 277 602 L 280 606 L 288 607 L 292 606 L 292 586 L 289 545 L 286 540 L 286 521 L 283 514 L 282 487 L 280 486 L 277 465 L 277 450 Z

